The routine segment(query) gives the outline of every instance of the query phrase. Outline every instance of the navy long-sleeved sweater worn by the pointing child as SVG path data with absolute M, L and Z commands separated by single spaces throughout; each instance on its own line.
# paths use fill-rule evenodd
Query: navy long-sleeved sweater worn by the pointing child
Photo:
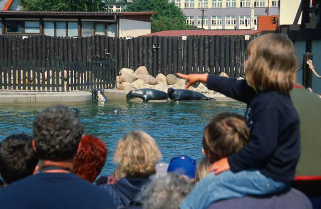
M 231 154 L 231 171 L 258 169 L 276 181 L 290 182 L 300 155 L 299 117 L 288 94 L 255 92 L 246 80 L 209 75 L 209 89 L 247 103 L 250 142 Z

